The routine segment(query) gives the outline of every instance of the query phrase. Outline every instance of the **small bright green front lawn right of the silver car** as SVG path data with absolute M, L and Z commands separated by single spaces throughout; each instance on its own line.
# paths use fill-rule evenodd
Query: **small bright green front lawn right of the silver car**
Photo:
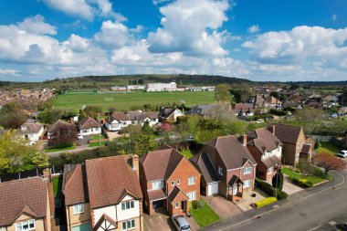
M 200 227 L 205 227 L 219 221 L 219 215 L 216 215 L 215 211 L 213 211 L 212 208 L 205 203 L 205 201 L 201 201 L 204 202 L 204 206 L 198 207 L 196 209 L 191 208 L 189 210 L 193 215 L 197 225 L 199 225 Z

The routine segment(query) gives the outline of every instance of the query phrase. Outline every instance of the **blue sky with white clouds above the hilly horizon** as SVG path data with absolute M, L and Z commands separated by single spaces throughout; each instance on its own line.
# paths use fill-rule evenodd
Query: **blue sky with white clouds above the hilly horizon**
M 0 80 L 347 80 L 345 0 L 0 0 Z

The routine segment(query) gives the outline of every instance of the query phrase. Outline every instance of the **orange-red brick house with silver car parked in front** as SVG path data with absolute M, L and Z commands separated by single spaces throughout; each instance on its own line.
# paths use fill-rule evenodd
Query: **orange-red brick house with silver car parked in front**
M 150 215 L 164 208 L 171 215 L 186 214 L 188 202 L 200 200 L 200 173 L 169 146 L 140 159 L 144 205 Z

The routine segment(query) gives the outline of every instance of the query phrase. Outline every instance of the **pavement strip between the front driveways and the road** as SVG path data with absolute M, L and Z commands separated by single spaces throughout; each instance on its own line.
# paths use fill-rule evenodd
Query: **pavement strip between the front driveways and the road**
M 297 203 L 301 200 L 306 199 L 307 197 L 310 197 L 311 195 L 320 193 L 322 190 L 326 190 L 333 186 L 337 186 L 338 184 L 344 183 L 344 178 L 341 174 L 335 173 L 335 172 L 331 172 L 331 173 L 334 176 L 334 178 L 330 182 L 317 185 L 310 189 L 300 191 L 296 194 L 291 194 L 286 200 L 278 201 L 277 203 L 274 203 L 265 207 L 252 209 L 247 212 L 241 213 L 239 215 L 231 216 L 211 226 L 206 226 L 205 228 L 201 230 L 221 230 L 223 228 L 231 228 L 231 226 L 233 225 L 242 224 L 244 221 L 247 221 L 249 219 L 261 217 L 261 215 L 266 215 L 274 210 L 283 208 L 287 205 L 292 205 L 294 203 Z

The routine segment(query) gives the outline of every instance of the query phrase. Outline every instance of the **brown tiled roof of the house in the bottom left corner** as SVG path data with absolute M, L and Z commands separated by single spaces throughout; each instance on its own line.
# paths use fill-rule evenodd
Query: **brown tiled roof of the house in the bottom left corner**
M 0 184 L 0 227 L 10 226 L 18 215 L 47 215 L 47 182 L 42 177 Z

